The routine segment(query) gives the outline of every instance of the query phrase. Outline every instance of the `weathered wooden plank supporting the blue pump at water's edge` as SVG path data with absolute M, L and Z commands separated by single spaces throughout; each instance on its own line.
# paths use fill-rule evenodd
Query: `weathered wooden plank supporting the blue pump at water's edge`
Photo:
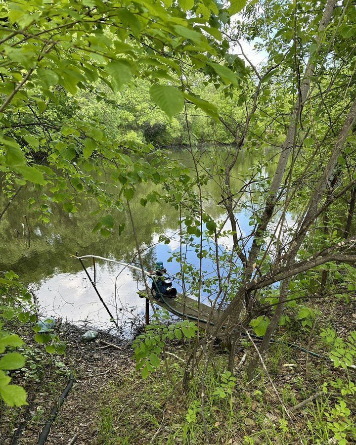
M 145 291 L 137 292 L 139 297 L 145 298 L 146 300 L 149 300 L 149 297 Z M 151 298 L 154 301 L 155 304 L 158 306 L 161 306 L 161 308 L 166 309 L 168 312 L 173 313 L 174 315 L 186 319 L 187 316 L 192 317 L 198 317 L 198 302 L 196 300 L 193 300 L 190 297 L 185 297 L 183 294 L 178 293 L 177 297 L 175 298 L 169 298 L 164 297 L 166 302 L 168 303 L 168 306 L 165 302 L 162 300 L 156 298 L 151 294 Z M 205 305 L 203 303 L 200 303 L 199 305 L 199 325 L 201 327 L 206 326 L 206 321 L 211 316 L 211 321 L 214 323 L 215 319 L 218 317 L 218 311 L 216 309 L 213 310 L 213 314 L 211 315 L 212 308 L 208 305 Z M 184 315 L 181 315 L 184 314 Z

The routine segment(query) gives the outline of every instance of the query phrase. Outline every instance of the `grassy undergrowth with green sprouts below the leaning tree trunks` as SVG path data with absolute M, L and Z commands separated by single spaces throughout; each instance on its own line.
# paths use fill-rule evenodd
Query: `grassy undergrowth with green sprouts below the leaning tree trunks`
M 225 354 L 216 354 L 205 379 L 204 414 L 210 444 L 334 444 L 355 443 L 355 395 L 344 394 L 324 382 L 339 379 L 340 388 L 349 376 L 333 375 L 334 369 L 312 358 L 306 365 L 286 345 L 275 345 L 273 360 L 267 359 L 270 376 L 283 405 L 291 408 L 324 388 L 324 396 L 288 418 L 268 378 L 260 372 L 252 384 L 244 373 L 236 380 L 226 373 Z M 201 415 L 199 369 L 182 391 L 187 352 L 175 348 L 180 357 L 170 357 L 164 366 L 146 380 L 132 370 L 111 382 L 102 397 L 96 423 L 95 445 L 118 444 L 205 444 Z M 241 353 L 242 354 L 242 353 Z M 241 357 L 237 357 L 239 360 Z M 335 386 L 335 385 L 334 385 Z M 336 391 L 336 392 L 335 392 Z M 340 396 L 340 397 L 339 397 Z M 354 404 L 354 406 L 352 406 Z

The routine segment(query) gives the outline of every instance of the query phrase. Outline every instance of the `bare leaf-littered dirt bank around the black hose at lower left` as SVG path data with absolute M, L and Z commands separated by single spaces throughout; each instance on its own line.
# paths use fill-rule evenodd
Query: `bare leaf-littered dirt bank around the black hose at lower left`
M 100 409 L 100 396 L 111 382 L 117 383 L 125 372 L 134 369 L 135 364 L 131 359 L 131 346 L 127 342 L 99 332 L 96 340 L 82 343 L 81 335 L 85 331 L 68 324 L 60 328 L 66 342 L 66 356 L 56 358 L 59 370 L 53 374 L 48 369 L 41 384 L 28 382 L 27 407 L 0 412 L 0 445 L 14 445 L 13 438 L 23 420 L 26 425 L 17 444 L 37 444 L 51 409 L 69 382 L 70 370 L 75 376 L 74 384 L 59 410 L 46 444 L 95 443 L 95 419 Z M 26 343 L 31 345 L 30 332 Z M 20 374 L 13 376 L 13 383 L 16 383 L 16 377 L 21 383 Z

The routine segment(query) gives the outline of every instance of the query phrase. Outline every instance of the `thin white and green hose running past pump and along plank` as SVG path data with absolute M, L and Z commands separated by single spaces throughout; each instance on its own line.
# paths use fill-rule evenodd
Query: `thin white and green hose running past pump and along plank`
M 97 256 L 97 255 L 83 255 L 83 256 L 81 256 L 81 257 L 75 256 L 75 255 L 72 255 L 72 256 L 73 256 L 74 258 L 77 258 L 78 260 L 82 260 L 82 259 L 84 259 L 84 258 L 97 258 L 97 259 L 99 259 L 99 260 L 108 261 L 108 262 L 110 262 L 110 263 L 120 264 L 121 266 L 131 267 L 132 269 L 138 270 L 138 271 L 141 272 L 141 273 L 142 273 L 142 271 L 143 271 L 149 278 L 152 279 L 152 281 L 153 281 L 153 283 L 154 283 L 154 285 L 155 285 L 155 288 L 158 290 L 159 298 L 163 301 L 163 303 L 164 303 L 164 304 L 165 304 L 165 305 L 166 305 L 166 306 L 167 306 L 173 313 L 175 313 L 176 315 L 181 316 L 181 317 L 183 317 L 183 318 L 186 317 L 186 318 L 188 318 L 188 319 L 190 319 L 190 320 L 193 320 L 193 321 L 201 321 L 202 323 L 207 323 L 207 324 L 209 323 L 210 325 L 215 326 L 215 323 L 214 323 L 213 321 L 211 321 L 211 320 L 208 321 L 208 320 L 205 320 L 205 319 L 203 319 L 203 318 L 195 317 L 194 315 L 184 314 L 183 312 L 179 312 L 177 309 L 173 308 L 173 307 L 170 305 L 170 303 L 165 299 L 163 293 L 159 291 L 160 286 L 159 286 L 159 284 L 158 284 L 158 281 L 155 280 L 155 278 L 154 278 L 155 275 L 154 275 L 152 272 L 148 272 L 147 270 L 144 270 L 144 269 L 141 268 L 141 267 L 133 266 L 133 265 L 130 264 L 130 263 L 123 263 L 123 262 L 121 262 L 121 261 L 111 260 L 110 258 L 104 258 L 104 257 L 100 257 L 100 256 Z M 165 269 L 163 269 L 163 263 L 158 263 L 158 264 L 161 265 L 161 267 L 162 267 L 161 270 L 165 270 Z M 163 287 L 164 287 L 165 289 L 169 289 L 169 286 L 168 286 L 168 285 L 163 286 Z M 171 289 L 175 289 L 175 288 L 171 288 Z M 155 290 L 155 289 L 154 289 L 154 290 Z M 176 289 L 175 289 L 175 290 L 176 290 Z M 155 292 L 157 292 L 157 291 L 155 290 Z M 174 293 L 174 292 L 172 292 L 172 293 Z M 177 295 L 177 290 L 176 290 L 175 295 Z M 172 296 L 174 297 L 175 295 L 172 295 Z M 224 326 L 223 326 L 223 327 L 224 327 Z M 238 330 L 237 330 L 237 329 L 234 329 L 234 331 L 237 332 Z M 243 332 L 241 332 L 241 335 L 243 335 L 244 337 L 246 336 Z M 251 335 L 251 337 L 253 337 L 253 338 L 257 339 L 257 340 L 262 340 L 262 339 L 263 339 L 263 337 L 259 337 L 258 335 L 255 335 L 255 334 L 250 334 L 250 335 Z M 271 343 L 283 343 L 283 340 L 271 339 L 270 342 L 271 342 Z M 295 343 L 286 342 L 286 344 L 287 344 L 288 346 L 290 346 L 291 348 L 299 349 L 300 351 L 302 351 L 302 352 L 304 352 L 304 353 L 306 353 L 306 354 L 310 354 L 311 356 L 314 356 L 314 357 L 318 357 L 318 358 L 329 358 L 329 357 L 326 357 L 326 356 L 323 356 L 323 355 L 314 353 L 313 351 L 310 351 L 310 350 L 308 350 L 308 349 L 306 349 L 306 348 L 303 348 L 302 346 L 299 346 L 299 345 L 297 345 L 297 344 L 295 344 Z

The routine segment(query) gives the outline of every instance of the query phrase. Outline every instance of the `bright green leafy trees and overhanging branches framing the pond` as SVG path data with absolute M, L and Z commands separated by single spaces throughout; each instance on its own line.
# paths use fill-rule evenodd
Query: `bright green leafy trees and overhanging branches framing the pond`
M 219 307 L 205 332 L 192 321 L 166 327 L 156 317 L 134 342 L 144 379 L 162 354 L 167 365 L 169 340 L 183 338 L 190 355 L 182 385 L 199 371 L 204 394 L 214 339 L 223 337 L 229 369 L 211 398 L 229 398 L 237 345 L 249 350 L 252 380 L 280 328 L 297 329 L 309 343 L 316 334 L 335 367 L 354 365 L 355 331 L 342 338 L 318 318 L 326 298 L 346 306 L 355 299 L 355 5 L 21 0 L 2 1 L 0 19 L 0 221 L 27 188 L 39 223 L 51 223 L 54 206 L 77 213 L 84 232 L 122 236 L 129 261 L 132 230 L 138 255 L 141 249 L 131 205 L 152 215 L 154 204 L 167 206 L 180 246 L 198 262 L 189 263 L 181 247 L 172 253 L 182 289 Z M 265 55 L 263 63 L 244 54 L 245 42 Z M 204 144 L 211 165 L 201 161 Z M 165 151 L 176 145 L 189 167 Z M 242 152 L 257 159 L 243 171 Z M 81 217 L 84 208 L 90 220 Z M 248 232 L 237 210 L 248 215 Z M 231 248 L 219 244 L 226 237 Z M 0 395 L 10 406 L 26 395 L 10 385 L 7 371 L 24 360 L 10 351 L 22 341 L 6 325 L 36 321 L 19 280 L 9 270 L 0 277 Z M 241 339 L 249 330 L 263 337 L 259 348 Z M 35 340 L 49 354 L 63 353 L 52 332 Z M 346 444 L 355 433 L 347 407 L 355 384 L 347 374 L 340 382 L 326 382 L 341 394 L 328 415 L 330 431 Z M 208 436 L 203 398 L 187 422 L 199 412 Z

